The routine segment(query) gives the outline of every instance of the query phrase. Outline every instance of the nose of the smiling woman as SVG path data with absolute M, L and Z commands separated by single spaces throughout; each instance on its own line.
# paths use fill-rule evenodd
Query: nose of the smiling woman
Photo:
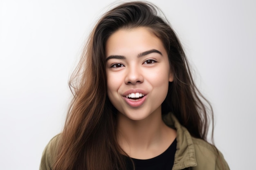
M 139 68 L 132 67 L 127 69 L 125 83 L 137 84 L 144 82 L 144 77 Z

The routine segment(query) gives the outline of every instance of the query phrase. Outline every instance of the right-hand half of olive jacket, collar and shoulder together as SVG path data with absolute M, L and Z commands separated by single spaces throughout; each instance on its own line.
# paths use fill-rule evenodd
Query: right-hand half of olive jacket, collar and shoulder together
M 207 141 L 192 137 L 172 113 L 165 115 L 163 120 L 177 131 L 173 170 L 188 167 L 192 167 L 192 170 L 229 170 L 221 152 Z

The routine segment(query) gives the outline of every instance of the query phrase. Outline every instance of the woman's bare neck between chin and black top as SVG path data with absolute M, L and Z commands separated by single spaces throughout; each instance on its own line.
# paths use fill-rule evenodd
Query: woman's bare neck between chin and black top
M 117 137 L 121 148 L 137 159 L 147 159 L 161 154 L 176 137 L 175 130 L 162 120 L 161 107 L 143 120 L 131 120 L 118 113 Z

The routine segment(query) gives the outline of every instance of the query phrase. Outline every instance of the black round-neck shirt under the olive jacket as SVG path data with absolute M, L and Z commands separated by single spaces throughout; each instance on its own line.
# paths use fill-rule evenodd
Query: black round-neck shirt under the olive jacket
M 132 161 L 135 166 L 135 170 L 171 170 L 174 163 L 174 155 L 176 152 L 177 141 L 173 141 L 171 146 L 164 151 L 161 155 L 151 159 L 134 159 Z M 127 157 L 127 170 L 133 170 L 132 162 Z

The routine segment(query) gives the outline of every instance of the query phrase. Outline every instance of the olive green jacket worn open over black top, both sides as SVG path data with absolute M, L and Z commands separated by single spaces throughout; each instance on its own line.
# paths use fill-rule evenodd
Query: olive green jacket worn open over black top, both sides
M 229 170 L 222 154 L 206 141 L 191 137 L 189 131 L 180 125 L 173 114 L 169 113 L 163 120 L 177 130 L 177 150 L 172 170 Z M 40 170 L 52 170 L 59 136 L 52 138 L 46 146 Z

